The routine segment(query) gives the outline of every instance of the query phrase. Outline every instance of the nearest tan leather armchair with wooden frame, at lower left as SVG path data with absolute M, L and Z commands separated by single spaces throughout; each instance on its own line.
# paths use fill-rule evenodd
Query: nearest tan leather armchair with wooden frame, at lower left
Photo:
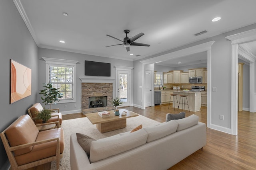
M 56 160 L 64 152 L 62 128 L 38 131 L 29 115 L 22 115 L 0 133 L 12 169 L 28 169 Z

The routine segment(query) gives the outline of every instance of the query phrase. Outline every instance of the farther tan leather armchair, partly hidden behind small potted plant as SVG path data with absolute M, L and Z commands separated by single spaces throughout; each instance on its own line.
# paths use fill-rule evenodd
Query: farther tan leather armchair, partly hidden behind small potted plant
M 33 106 L 31 106 L 28 109 L 28 114 L 34 120 L 35 124 L 42 123 L 42 120 L 36 119 L 36 113 L 39 112 L 42 109 L 43 109 L 43 107 L 40 103 L 33 104 Z M 62 123 L 62 114 L 60 113 L 59 109 L 49 109 L 49 110 L 56 110 L 58 112 L 57 113 L 52 113 L 52 117 L 47 122 L 59 121 L 60 125 L 61 125 L 61 123 Z M 58 120 L 58 117 L 59 117 L 59 120 Z

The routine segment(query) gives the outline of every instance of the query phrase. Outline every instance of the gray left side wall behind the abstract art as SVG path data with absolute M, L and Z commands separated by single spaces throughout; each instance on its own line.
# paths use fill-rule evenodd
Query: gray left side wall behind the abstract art
M 37 46 L 12 0 L 0 1 L 0 131 L 27 113 L 38 93 Z M 32 69 L 32 95 L 13 104 L 10 100 L 10 59 Z M 0 140 L 0 169 L 8 158 Z

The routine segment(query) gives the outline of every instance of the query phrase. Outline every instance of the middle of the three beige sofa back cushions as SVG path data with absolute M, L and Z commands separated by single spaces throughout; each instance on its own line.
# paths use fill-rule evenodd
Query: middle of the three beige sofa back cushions
M 161 123 L 160 125 L 145 127 L 143 129 L 148 133 L 148 143 L 176 132 L 177 127 L 178 123 L 172 120 L 166 123 Z

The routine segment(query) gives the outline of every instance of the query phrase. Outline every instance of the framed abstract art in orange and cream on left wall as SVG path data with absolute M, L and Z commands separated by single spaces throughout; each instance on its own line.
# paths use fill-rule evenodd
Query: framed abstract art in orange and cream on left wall
M 10 104 L 31 95 L 31 69 L 10 59 Z

